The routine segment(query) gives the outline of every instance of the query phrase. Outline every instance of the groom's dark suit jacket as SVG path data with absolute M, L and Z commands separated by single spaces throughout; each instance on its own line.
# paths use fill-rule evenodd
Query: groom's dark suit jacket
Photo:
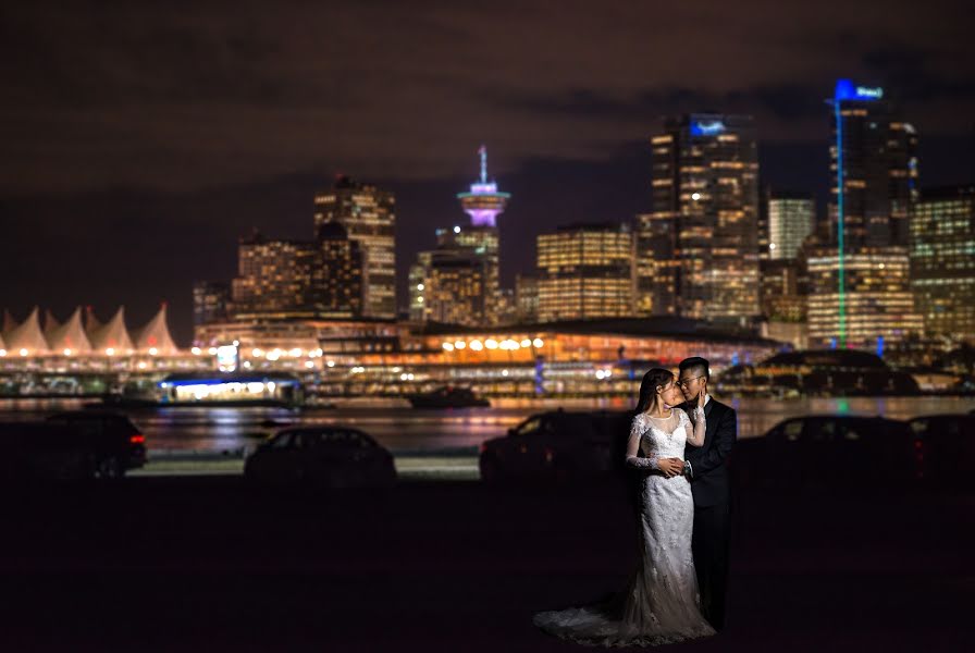
M 693 422 L 696 404 L 680 406 L 691 415 Z M 738 440 L 738 415 L 731 406 L 716 402 L 714 397 L 704 406 L 707 429 L 704 446 L 688 445 L 684 456 L 691 464 L 691 492 L 694 506 L 706 507 L 731 501 L 728 480 L 728 458 Z

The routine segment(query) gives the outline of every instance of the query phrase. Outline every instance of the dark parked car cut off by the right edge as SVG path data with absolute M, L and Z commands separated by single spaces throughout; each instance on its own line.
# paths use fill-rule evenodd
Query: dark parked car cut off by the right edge
M 939 484 L 972 486 L 975 415 L 930 415 L 908 422 L 916 438 L 920 476 Z

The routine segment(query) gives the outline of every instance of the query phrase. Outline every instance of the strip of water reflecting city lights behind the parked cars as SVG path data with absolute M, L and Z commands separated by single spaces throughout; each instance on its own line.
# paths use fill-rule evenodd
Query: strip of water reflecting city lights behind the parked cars
M 762 435 L 779 421 L 801 415 L 863 415 L 910 419 L 920 415 L 967 412 L 975 397 L 839 397 L 802 399 L 743 398 L 729 402 L 738 411 L 740 438 Z M 37 419 L 79 402 L 0 401 L 0 421 Z M 624 399 L 496 399 L 491 408 L 418 410 L 403 402 L 354 401 L 336 409 L 292 411 L 284 408 L 158 408 L 129 417 L 152 452 L 230 452 L 252 447 L 291 424 L 342 423 L 356 427 L 394 452 L 436 452 L 477 447 L 504 435 L 540 410 L 604 408 L 627 410 Z

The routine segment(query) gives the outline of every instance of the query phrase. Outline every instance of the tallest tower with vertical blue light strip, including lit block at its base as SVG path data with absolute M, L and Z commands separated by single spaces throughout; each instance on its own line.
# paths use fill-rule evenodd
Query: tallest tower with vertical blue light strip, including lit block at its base
M 810 341 L 883 350 L 922 332 L 908 257 L 917 137 L 883 88 L 840 79 L 830 104 L 832 201 L 810 250 Z

